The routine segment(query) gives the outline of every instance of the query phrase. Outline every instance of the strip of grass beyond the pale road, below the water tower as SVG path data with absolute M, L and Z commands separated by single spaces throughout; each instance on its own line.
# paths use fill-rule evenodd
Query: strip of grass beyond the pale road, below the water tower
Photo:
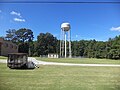
M 120 64 L 120 60 L 96 59 L 96 58 L 40 58 L 37 60 L 59 63 L 80 63 L 80 64 Z

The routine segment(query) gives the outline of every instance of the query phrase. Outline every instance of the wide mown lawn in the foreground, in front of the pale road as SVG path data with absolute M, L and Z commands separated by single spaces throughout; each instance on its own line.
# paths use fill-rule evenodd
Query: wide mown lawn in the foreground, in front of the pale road
M 15 70 L 0 64 L 0 90 L 120 90 L 120 67 L 40 66 Z

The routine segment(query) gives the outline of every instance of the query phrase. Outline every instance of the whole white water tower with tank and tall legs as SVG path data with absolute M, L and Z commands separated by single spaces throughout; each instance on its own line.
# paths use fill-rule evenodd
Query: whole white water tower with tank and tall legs
M 67 46 L 68 41 L 68 46 Z M 67 51 L 67 47 L 69 51 Z M 69 54 L 69 58 L 71 58 L 71 34 L 70 34 L 70 24 L 62 23 L 61 24 L 61 35 L 60 35 L 60 57 L 67 57 L 67 53 Z

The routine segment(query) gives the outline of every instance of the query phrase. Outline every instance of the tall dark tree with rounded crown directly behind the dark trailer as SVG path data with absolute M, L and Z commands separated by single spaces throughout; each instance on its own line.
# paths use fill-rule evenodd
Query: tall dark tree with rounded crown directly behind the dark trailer
M 15 39 L 19 44 L 19 52 L 29 53 L 29 56 L 32 56 L 33 50 L 33 32 L 30 29 L 21 28 L 15 32 Z M 26 44 L 27 43 L 27 44 Z M 24 49 L 23 49 L 24 48 Z M 23 50 L 21 50 L 23 49 Z

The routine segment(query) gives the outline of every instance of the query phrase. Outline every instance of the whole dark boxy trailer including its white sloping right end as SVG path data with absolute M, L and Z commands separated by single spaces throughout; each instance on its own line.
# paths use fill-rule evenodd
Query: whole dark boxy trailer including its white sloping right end
M 33 61 L 28 59 L 27 53 L 9 53 L 7 66 L 11 69 L 34 69 L 39 68 Z

